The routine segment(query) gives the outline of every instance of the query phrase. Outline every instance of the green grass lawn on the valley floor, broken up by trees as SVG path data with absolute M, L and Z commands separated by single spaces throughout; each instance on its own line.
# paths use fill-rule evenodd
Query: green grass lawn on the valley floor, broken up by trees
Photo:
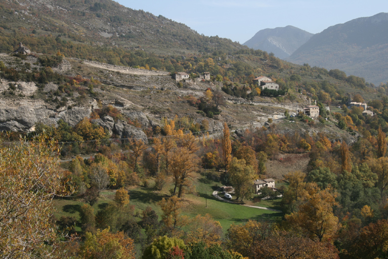
M 198 214 L 205 215 L 208 213 L 214 220 L 220 222 L 224 232 L 229 229 L 231 224 L 244 223 L 249 219 L 273 222 L 281 219 L 283 216 L 282 212 L 251 208 L 218 200 L 212 196 L 212 192 L 220 186 L 222 186 L 221 183 L 198 175 L 198 179 L 193 183 L 193 187 L 191 188 L 192 192 L 185 194 L 183 197 L 184 206 L 182 208 L 182 214 L 195 217 Z M 170 188 L 171 185 L 166 185 L 162 191 L 155 191 L 152 188 L 145 187 L 131 188 L 128 192 L 130 194 L 130 204 L 135 206 L 135 213 L 141 212 L 150 206 L 157 214 L 161 215 L 162 211 L 157 203 L 162 198 L 169 197 Z M 113 198 L 113 191 L 106 190 L 101 192 L 100 198 L 93 205 L 95 213 L 111 202 Z M 281 198 L 277 198 L 274 200 L 263 200 L 257 203 L 249 202 L 249 204 L 280 210 L 280 201 Z M 82 204 L 78 200 L 56 199 L 54 200 L 54 206 L 57 208 L 55 217 L 59 219 L 61 216 L 73 216 L 79 220 L 79 210 Z

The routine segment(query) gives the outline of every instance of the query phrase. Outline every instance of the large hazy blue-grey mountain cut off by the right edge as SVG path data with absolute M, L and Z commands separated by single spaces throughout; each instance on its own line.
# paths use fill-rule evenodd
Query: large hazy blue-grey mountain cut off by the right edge
M 331 26 L 315 34 L 287 61 L 340 69 L 374 84 L 388 81 L 388 13 Z

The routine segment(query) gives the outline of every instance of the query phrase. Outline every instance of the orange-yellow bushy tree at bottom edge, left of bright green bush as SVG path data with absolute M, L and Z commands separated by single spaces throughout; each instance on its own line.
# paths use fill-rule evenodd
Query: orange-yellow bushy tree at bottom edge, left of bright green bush
M 87 232 L 85 236 L 85 242 L 80 249 L 84 259 L 135 259 L 134 241 L 126 238 L 123 232 L 113 234 L 109 229 L 104 229 L 98 230 L 95 235 Z

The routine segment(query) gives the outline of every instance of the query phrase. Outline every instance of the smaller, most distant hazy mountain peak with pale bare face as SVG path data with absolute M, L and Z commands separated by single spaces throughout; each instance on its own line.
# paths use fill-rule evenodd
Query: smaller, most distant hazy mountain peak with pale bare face
M 276 57 L 285 59 L 314 34 L 293 26 L 277 27 L 258 31 L 243 45 L 255 50 L 272 52 Z

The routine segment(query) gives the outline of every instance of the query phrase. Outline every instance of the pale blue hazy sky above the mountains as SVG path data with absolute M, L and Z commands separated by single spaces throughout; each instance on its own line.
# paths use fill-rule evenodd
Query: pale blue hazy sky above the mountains
M 311 33 L 359 17 L 388 12 L 387 0 L 115 0 L 162 15 L 200 34 L 243 44 L 262 29 L 292 25 Z

